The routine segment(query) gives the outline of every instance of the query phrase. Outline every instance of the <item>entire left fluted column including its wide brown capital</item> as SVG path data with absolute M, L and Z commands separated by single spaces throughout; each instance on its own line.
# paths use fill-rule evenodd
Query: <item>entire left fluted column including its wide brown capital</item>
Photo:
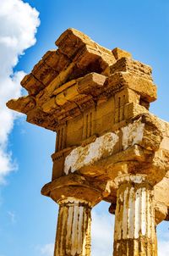
M 112 181 L 100 182 L 95 186 L 82 175 L 68 174 L 42 187 L 42 195 L 59 204 L 54 256 L 90 256 L 90 212 L 112 187 Z

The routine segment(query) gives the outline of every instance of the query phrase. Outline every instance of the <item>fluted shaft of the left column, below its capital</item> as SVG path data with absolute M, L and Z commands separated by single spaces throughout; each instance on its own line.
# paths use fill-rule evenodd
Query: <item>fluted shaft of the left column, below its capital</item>
M 59 202 L 54 256 L 89 256 L 91 205 L 85 200 L 66 198 Z

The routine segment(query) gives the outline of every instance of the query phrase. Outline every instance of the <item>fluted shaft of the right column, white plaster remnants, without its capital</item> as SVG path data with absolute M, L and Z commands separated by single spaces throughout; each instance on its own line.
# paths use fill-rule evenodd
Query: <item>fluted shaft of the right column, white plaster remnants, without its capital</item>
M 146 175 L 117 177 L 113 256 L 156 256 L 153 187 Z

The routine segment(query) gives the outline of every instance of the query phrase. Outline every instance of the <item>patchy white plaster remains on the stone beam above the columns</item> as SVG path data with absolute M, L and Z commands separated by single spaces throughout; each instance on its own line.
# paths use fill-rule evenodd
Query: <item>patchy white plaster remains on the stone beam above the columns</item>
M 122 128 L 122 144 L 123 150 L 128 147 L 133 147 L 135 144 L 139 144 L 143 140 L 144 136 L 144 124 L 141 123 L 141 119 L 134 121 Z M 121 133 L 107 132 L 103 136 L 99 136 L 95 139 L 95 142 L 91 142 L 85 147 L 79 146 L 74 148 L 71 153 L 65 158 L 64 173 L 74 173 L 76 170 L 80 170 L 82 167 L 95 164 L 101 159 L 111 156 L 115 151 L 114 148 L 117 142 L 121 140 Z

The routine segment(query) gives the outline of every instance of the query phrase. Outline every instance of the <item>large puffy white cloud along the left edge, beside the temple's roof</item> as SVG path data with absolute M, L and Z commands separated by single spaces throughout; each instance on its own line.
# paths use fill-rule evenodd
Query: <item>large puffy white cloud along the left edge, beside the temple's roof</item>
M 19 55 L 35 44 L 35 32 L 39 13 L 21 0 L 0 0 L 0 183 L 14 170 L 11 153 L 8 152 L 8 135 L 17 117 L 7 109 L 9 99 L 21 95 L 19 82 L 24 71 L 14 72 Z

